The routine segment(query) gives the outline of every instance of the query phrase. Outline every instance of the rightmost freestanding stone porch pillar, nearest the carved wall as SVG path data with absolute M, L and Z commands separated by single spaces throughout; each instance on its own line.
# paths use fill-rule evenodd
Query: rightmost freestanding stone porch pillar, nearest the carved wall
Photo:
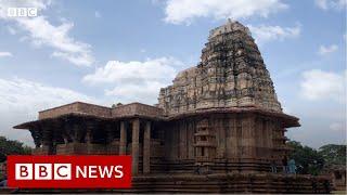
M 143 173 L 151 172 L 151 121 L 145 122 L 143 135 Z

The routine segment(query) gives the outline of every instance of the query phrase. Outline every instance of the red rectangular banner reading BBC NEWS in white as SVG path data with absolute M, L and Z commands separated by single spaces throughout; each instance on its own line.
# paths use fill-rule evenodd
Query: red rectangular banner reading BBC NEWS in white
M 131 187 L 131 156 L 9 155 L 7 170 L 9 187 Z

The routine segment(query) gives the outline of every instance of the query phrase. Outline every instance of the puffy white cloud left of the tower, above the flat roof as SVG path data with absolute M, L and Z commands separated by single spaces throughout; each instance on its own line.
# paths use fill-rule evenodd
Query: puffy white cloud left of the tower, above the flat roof
M 159 89 L 171 82 L 182 63 L 172 57 L 146 60 L 144 62 L 108 61 L 104 67 L 83 77 L 90 84 L 108 84 L 106 95 L 126 103 L 140 101 L 149 104 L 157 102 Z

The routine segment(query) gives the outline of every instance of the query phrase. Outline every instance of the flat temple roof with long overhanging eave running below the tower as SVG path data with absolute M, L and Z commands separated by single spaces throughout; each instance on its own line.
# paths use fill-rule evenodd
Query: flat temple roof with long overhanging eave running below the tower
M 97 108 L 97 109 L 95 109 Z M 101 114 L 95 112 L 101 110 Z M 110 112 L 110 113 L 108 113 Z M 104 115 L 108 113 L 110 115 Z M 100 114 L 100 115 L 99 115 Z M 46 109 L 39 112 L 38 120 L 27 121 L 13 127 L 14 129 L 35 129 L 42 123 L 53 123 L 61 122 L 64 123 L 72 119 L 83 119 L 88 121 L 114 121 L 114 120 L 125 120 L 129 118 L 143 118 L 156 121 L 171 121 L 179 120 L 183 118 L 211 115 L 211 114 L 260 114 L 262 116 L 269 116 L 277 118 L 282 121 L 283 128 L 288 127 L 299 127 L 298 118 L 285 115 L 283 113 L 269 112 L 257 107 L 215 107 L 207 109 L 195 109 L 192 112 L 185 112 L 183 114 L 174 114 L 166 116 L 163 110 L 141 104 L 131 103 L 126 105 L 120 105 L 114 108 L 99 106 L 89 103 L 75 102 L 72 104 L 62 105 L 59 107 Z

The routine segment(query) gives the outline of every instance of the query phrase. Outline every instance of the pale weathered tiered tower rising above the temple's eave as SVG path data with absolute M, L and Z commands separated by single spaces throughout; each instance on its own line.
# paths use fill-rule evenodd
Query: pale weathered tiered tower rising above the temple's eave
M 209 32 L 202 62 L 160 90 L 159 107 L 180 114 L 213 107 L 258 107 L 282 113 L 249 29 L 228 21 Z

